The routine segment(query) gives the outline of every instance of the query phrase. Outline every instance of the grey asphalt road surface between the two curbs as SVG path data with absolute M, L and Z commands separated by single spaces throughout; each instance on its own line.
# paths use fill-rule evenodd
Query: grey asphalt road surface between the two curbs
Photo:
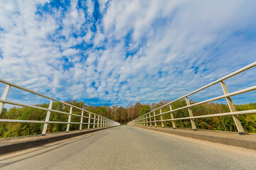
M 255 169 L 256 167 L 255 154 L 233 152 L 225 148 L 205 145 L 203 141 L 193 142 L 183 138 L 123 125 L 1 156 L 0 169 Z

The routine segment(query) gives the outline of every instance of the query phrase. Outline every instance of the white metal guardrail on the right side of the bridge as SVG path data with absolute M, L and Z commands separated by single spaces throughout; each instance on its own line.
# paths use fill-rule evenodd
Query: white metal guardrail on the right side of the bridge
M 240 135 L 245 135 L 245 131 L 242 128 L 242 125 L 240 123 L 238 115 L 253 114 L 253 113 L 256 113 L 256 110 L 235 111 L 235 106 L 234 106 L 233 101 L 231 100 L 230 97 L 238 95 L 238 94 L 244 94 L 244 93 L 249 92 L 249 91 L 255 91 L 256 90 L 256 86 L 251 86 L 249 88 L 242 89 L 240 91 L 235 91 L 233 93 L 228 93 L 228 89 L 227 89 L 227 86 L 225 86 L 224 80 L 228 79 L 230 77 L 233 77 L 236 74 L 240 74 L 241 72 L 245 72 L 247 69 L 251 69 L 252 67 L 255 67 L 255 66 L 256 66 L 256 62 L 253 62 L 252 64 L 249 64 L 246 67 L 243 67 L 242 69 L 238 69 L 237 71 L 235 71 L 235 72 L 233 72 L 231 74 L 228 74 L 225 77 L 222 77 L 222 78 L 220 78 L 220 79 L 218 79 L 216 81 L 213 81 L 210 84 L 207 84 L 206 86 L 203 86 L 203 87 L 201 87 L 199 89 L 196 89 L 195 91 L 192 91 L 191 93 L 186 94 L 185 96 L 177 98 L 176 100 L 171 101 L 169 103 L 166 103 L 164 106 L 161 106 L 159 108 L 154 109 L 153 111 L 150 111 L 149 113 L 146 113 L 144 115 L 139 116 L 138 118 L 136 118 L 136 119 L 132 120 L 131 122 L 129 122 L 128 125 L 149 126 L 148 125 L 148 123 L 149 123 L 150 126 L 152 126 L 151 123 L 154 123 L 154 125 L 156 127 L 156 123 L 160 122 L 162 128 L 164 128 L 164 121 L 171 121 L 172 127 L 175 129 L 176 125 L 175 125 L 174 120 L 191 120 L 192 129 L 196 130 L 196 124 L 194 122 L 194 119 L 198 119 L 198 118 L 213 118 L 213 117 L 219 117 L 219 116 L 232 115 L 233 116 L 233 120 L 235 122 L 235 126 L 238 129 L 239 134 Z M 206 88 L 208 88 L 210 86 L 213 86 L 214 84 L 218 84 L 218 83 L 220 83 L 220 85 L 221 85 L 221 87 L 223 89 L 223 94 L 224 95 L 218 96 L 218 97 L 215 97 L 215 98 L 210 98 L 210 99 L 208 99 L 206 101 L 201 101 L 201 102 L 198 102 L 198 103 L 193 103 L 193 104 L 190 103 L 188 96 L 191 96 L 192 94 L 196 94 L 198 91 L 202 91 L 203 89 L 206 89 Z M 171 103 L 174 103 L 175 101 L 179 101 L 179 100 L 181 100 L 183 98 L 186 98 L 186 106 L 181 107 L 181 108 L 176 108 L 176 109 L 173 110 L 172 106 L 171 106 Z M 193 116 L 193 112 L 191 110 L 191 107 L 198 106 L 200 104 L 208 103 L 208 102 L 211 102 L 211 101 L 217 101 L 217 100 L 222 99 L 222 98 L 226 98 L 226 101 L 228 103 L 228 107 L 230 109 L 230 113 L 217 113 L 217 114 L 212 114 L 212 115 Z M 165 106 L 169 106 L 169 111 L 166 111 L 166 112 L 162 113 L 161 108 L 164 108 Z M 174 118 L 174 111 L 179 111 L 179 110 L 184 109 L 184 108 L 188 108 L 188 115 L 189 115 L 189 117 L 186 117 L 186 118 Z M 156 114 L 157 110 L 160 111 L 159 114 Z M 151 113 L 153 113 L 153 115 L 151 115 Z M 163 119 L 162 115 L 164 115 L 166 113 L 170 113 L 171 114 L 171 119 L 165 119 L 165 120 Z M 156 120 L 156 116 L 159 116 L 159 115 L 160 115 L 160 120 Z M 154 120 L 151 120 L 151 118 L 154 118 Z

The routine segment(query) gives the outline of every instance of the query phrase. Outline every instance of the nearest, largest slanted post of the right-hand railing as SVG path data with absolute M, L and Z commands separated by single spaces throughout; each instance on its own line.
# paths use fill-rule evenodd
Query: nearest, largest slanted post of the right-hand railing
M 228 94 L 228 89 L 227 89 L 227 86 L 225 85 L 224 81 L 220 81 L 220 84 L 221 84 L 224 94 Z M 234 106 L 232 99 L 230 97 L 226 97 L 226 100 L 227 100 L 230 112 L 235 112 L 235 106 Z M 238 129 L 239 135 L 245 135 L 245 130 L 242 128 L 242 124 L 238 118 L 238 115 L 232 115 L 232 117 L 235 122 L 235 126 Z

